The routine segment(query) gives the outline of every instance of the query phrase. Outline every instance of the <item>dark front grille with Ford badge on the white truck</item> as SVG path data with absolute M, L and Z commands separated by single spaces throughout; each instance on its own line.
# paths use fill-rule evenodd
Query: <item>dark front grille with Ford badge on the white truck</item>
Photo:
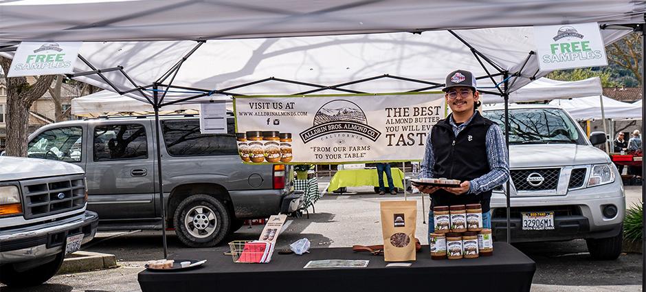
M 85 206 L 82 175 L 20 181 L 25 219 L 49 216 Z

